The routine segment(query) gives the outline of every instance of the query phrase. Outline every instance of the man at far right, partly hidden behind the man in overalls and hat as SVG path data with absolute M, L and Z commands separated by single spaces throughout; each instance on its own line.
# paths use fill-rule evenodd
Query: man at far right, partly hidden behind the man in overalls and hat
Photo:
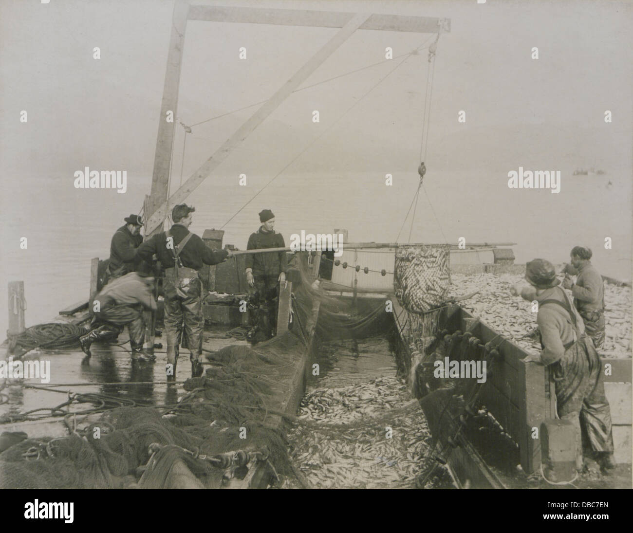
M 591 264 L 591 249 L 574 246 L 570 257 L 571 265 L 565 265 L 567 274 L 563 287 L 570 289 L 573 304 L 585 323 L 585 332 L 598 349 L 605 346 L 605 285 L 598 270 Z M 577 275 L 575 284 L 569 275 Z

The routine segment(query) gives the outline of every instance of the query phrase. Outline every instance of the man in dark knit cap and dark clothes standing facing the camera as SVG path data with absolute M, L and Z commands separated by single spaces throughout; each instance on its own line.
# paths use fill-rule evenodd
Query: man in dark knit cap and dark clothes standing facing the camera
M 275 233 L 275 215 L 270 209 L 260 212 L 261 226 L 248 239 L 246 249 L 285 248 L 284 237 Z M 248 308 L 251 318 L 249 342 L 266 341 L 277 329 L 279 284 L 285 283 L 285 251 L 246 254 Z

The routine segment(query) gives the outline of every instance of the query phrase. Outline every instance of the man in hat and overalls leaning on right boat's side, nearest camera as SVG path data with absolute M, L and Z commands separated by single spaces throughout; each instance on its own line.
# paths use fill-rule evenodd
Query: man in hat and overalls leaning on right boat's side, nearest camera
M 525 279 L 532 287 L 512 287 L 529 301 L 536 300 L 542 351 L 523 361 L 547 365 L 555 380 L 556 410 L 561 420 L 573 423 L 576 432 L 576 468 L 582 471 L 582 434 L 603 473 L 615 467 L 611 410 L 605 396 L 603 366 L 570 296 L 556 279 L 554 266 L 544 259 L 525 265 Z

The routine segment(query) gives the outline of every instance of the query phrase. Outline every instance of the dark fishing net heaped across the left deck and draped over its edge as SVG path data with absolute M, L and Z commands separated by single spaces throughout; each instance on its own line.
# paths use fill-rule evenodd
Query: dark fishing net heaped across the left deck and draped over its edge
M 115 408 L 87 426 L 66 417 L 70 436 L 13 444 L 0 453 L 0 488 L 222 487 L 255 464 L 275 482 L 292 476 L 283 421 L 293 363 L 315 328 L 311 317 L 320 308 L 316 335 L 329 337 L 362 335 L 386 313 L 382 302 L 380 312 L 359 312 L 323 294 L 311 285 L 305 256 L 297 254 L 291 266 L 288 332 L 208 354 L 210 367 L 185 382 L 177 404 Z M 193 477 L 183 479 L 187 471 Z

